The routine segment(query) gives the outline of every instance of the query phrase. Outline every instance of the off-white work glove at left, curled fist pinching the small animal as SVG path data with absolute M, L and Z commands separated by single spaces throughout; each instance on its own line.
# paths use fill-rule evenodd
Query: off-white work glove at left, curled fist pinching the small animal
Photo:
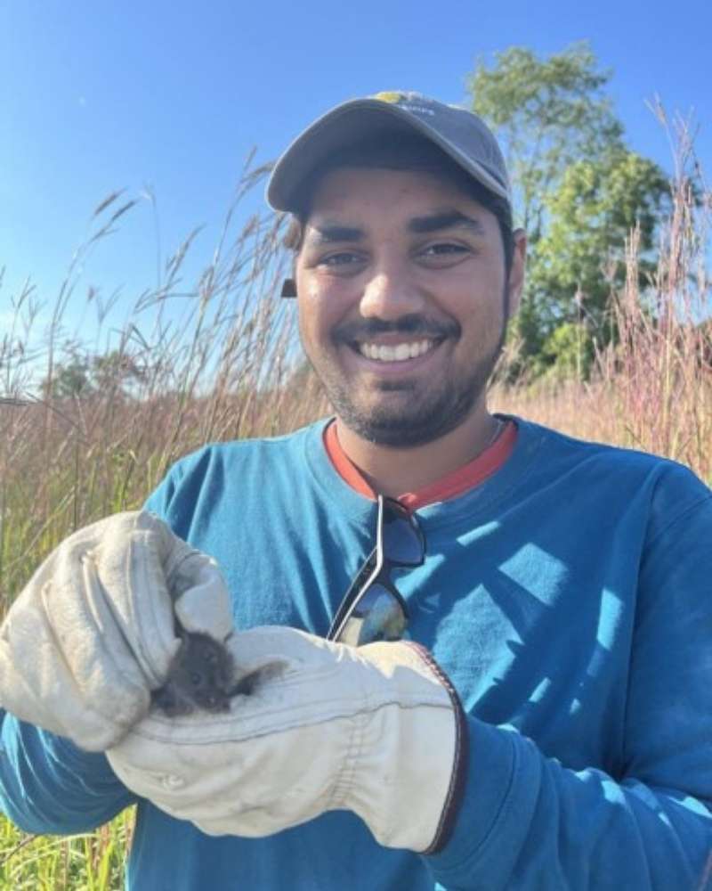
M 174 602 L 175 601 L 175 602 Z M 146 715 L 187 630 L 231 633 L 213 560 L 146 511 L 120 513 L 59 545 L 0 626 L 0 706 L 103 751 Z

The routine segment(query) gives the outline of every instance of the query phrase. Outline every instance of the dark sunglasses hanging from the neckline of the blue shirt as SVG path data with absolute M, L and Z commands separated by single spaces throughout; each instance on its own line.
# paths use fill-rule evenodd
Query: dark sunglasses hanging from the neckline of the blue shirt
M 401 640 L 408 607 L 391 581 L 391 570 L 421 566 L 424 560 L 425 535 L 417 519 L 401 503 L 378 495 L 376 547 L 336 610 L 327 640 L 355 647 Z

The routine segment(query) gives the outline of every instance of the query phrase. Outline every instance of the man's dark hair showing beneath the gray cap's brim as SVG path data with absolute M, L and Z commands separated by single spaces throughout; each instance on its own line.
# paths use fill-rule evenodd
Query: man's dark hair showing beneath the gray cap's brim
M 512 209 L 509 202 L 490 192 L 468 174 L 444 151 L 429 140 L 412 133 L 393 133 L 369 138 L 336 151 L 322 161 L 295 193 L 295 211 L 284 244 L 294 251 L 302 247 L 303 230 L 312 211 L 312 197 L 321 179 L 340 168 L 381 168 L 427 173 L 464 192 L 497 218 L 505 254 L 505 272 L 509 275 L 514 254 Z

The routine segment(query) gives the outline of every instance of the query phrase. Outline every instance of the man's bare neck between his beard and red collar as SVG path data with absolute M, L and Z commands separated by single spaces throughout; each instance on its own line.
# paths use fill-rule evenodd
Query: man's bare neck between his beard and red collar
M 430 486 L 481 454 L 497 436 L 499 422 L 486 406 L 445 436 L 424 446 L 379 446 L 360 437 L 336 419 L 339 445 L 370 486 L 382 495 L 397 497 Z

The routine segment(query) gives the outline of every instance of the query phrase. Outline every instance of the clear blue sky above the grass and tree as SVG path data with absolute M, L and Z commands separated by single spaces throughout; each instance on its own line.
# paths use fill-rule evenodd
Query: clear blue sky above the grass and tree
M 0 334 L 20 282 L 53 302 L 93 208 L 148 200 L 85 266 L 131 301 L 156 282 L 157 251 L 197 225 L 206 261 L 247 152 L 271 159 L 331 105 L 384 89 L 466 102 L 478 56 L 539 55 L 587 39 L 629 143 L 670 168 L 646 108 L 695 110 L 712 176 L 708 0 L 0 0 Z M 80 312 L 77 303 L 76 312 Z

